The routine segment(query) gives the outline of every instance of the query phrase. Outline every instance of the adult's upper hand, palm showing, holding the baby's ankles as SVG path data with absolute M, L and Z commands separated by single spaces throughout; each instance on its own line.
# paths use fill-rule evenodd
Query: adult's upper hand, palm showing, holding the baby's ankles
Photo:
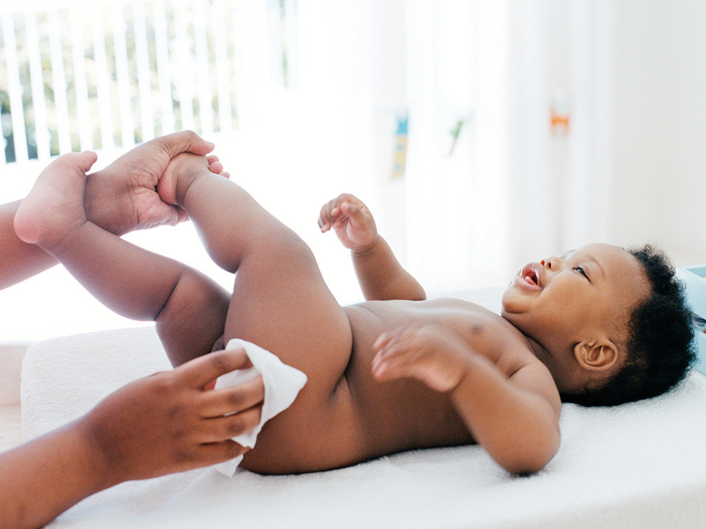
M 119 236 L 135 229 L 174 226 L 186 220 L 182 209 L 160 200 L 157 182 L 177 154 L 191 152 L 204 156 L 213 147 L 213 143 L 190 130 L 138 145 L 89 176 L 85 190 L 88 220 Z

